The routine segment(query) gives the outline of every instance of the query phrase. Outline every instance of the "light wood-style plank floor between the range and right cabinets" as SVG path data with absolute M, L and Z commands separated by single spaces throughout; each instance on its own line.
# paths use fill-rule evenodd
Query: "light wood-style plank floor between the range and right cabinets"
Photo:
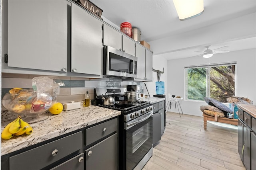
M 166 113 L 166 131 L 143 170 L 245 170 L 237 150 L 237 126 L 203 117 Z

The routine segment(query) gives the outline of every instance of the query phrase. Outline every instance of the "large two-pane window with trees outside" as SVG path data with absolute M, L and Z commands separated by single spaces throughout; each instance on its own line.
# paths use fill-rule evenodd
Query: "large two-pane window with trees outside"
M 185 67 L 186 100 L 204 101 L 210 97 L 220 102 L 235 96 L 236 62 Z

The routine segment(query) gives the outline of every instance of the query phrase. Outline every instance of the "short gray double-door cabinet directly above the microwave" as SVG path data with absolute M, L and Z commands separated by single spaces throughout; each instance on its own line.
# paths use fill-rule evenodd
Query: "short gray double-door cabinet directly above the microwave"
M 135 56 L 135 41 L 107 24 L 103 26 L 103 45 L 111 46 Z

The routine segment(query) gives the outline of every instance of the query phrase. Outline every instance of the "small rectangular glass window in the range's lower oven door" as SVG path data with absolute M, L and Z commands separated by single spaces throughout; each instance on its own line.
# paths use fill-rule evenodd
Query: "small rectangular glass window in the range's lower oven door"
M 149 122 L 144 126 L 140 127 L 134 133 L 132 133 L 132 153 L 140 148 L 148 139 L 150 135 L 150 124 Z

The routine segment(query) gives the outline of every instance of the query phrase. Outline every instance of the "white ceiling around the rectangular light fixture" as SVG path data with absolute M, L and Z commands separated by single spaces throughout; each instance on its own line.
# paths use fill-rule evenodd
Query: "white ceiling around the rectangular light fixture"
M 117 28 L 130 22 L 140 29 L 140 39 L 151 45 L 154 55 L 168 60 L 199 55 L 194 51 L 204 51 L 206 45 L 228 46 L 222 50 L 231 51 L 256 48 L 256 0 L 204 0 L 204 13 L 185 21 L 178 19 L 172 0 L 91 1 L 103 10 L 103 20 Z M 241 19 L 236 22 L 236 18 Z M 255 31 L 242 26 L 248 23 L 246 18 Z M 250 33 L 238 33 L 241 30 Z

